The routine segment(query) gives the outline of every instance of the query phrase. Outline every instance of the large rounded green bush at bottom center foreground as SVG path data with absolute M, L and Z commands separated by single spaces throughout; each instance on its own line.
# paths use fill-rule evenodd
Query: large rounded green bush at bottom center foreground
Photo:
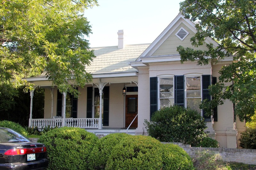
M 89 159 L 90 169 L 194 169 L 188 154 L 178 146 L 124 133 L 101 138 Z

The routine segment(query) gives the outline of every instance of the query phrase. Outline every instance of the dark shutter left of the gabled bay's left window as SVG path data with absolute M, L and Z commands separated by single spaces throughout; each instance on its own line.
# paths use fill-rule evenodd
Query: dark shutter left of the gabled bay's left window
M 150 118 L 157 111 L 157 77 L 151 77 L 149 79 L 149 91 L 150 91 Z

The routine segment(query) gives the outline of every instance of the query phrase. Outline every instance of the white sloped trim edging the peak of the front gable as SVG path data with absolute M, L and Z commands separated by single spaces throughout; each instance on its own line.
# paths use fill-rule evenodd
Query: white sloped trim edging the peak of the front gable
M 181 20 L 180 18 L 184 19 L 186 22 Z M 181 24 L 185 24 L 188 26 L 189 29 L 191 29 L 194 33 L 196 33 L 196 24 L 192 22 L 189 19 L 184 18 L 181 13 L 179 13 L 173 20 L 172 22 L 164 29 L 164 31 L 156 38 L 155 41 L 151 43 L 151 45 L 148 46 L 148 48 L 136 59 L 136 61 L 140 61 L 141 57 L 144 56 L 151 56 L 162 44 L 163 42 L 175 31 L 175 29 Z M 176 25 L 176 26 L 175 26 Z M 212 43 L 214 46 L 218 46 L 218 43 L 212 38 L 207 37 L 205 40 L 206 43 Z

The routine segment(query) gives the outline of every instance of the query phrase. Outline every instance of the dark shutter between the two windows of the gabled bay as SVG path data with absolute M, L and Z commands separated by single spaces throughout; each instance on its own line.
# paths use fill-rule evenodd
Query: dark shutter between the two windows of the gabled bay
M 184 75 L 174 76 L 174 104 L 184 107 Z

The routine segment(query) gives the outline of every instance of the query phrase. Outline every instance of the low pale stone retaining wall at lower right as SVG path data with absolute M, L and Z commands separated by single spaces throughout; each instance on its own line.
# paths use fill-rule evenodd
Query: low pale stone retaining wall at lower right
M 163 142 L 166 143 L 166 142 Z M 191 147 L 188 144 L 177 144 L 183 148 L 192 158 L 196 153 L 200 151 L 209 151 L 219 153 L 222 159 L 226 162 L 240 162 L 245 164 L 256 165 L 256 150 L 255 149 L 234 149 L 234 148 L 203 148 L 203 147 Z

